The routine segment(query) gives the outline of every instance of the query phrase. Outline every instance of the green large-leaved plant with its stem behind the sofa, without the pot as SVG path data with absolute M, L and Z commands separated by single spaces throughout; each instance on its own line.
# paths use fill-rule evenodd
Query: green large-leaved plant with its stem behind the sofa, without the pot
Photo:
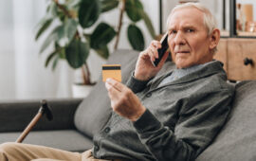
M 98 22 L 101 13 L 120 8 L 118 29 L 105 22 Z M 82 84 L 93 85 L 87 58 L 95 50 L 102 58 L 109 56 L 108 44 L 116 37 L 115 49 L 119 44 L 123 13 L 128 15 L 131 23 L 127 29 L 127 38 L 134 49 L 144 49 L 144 38 L 136 23 L 145 22 L 153 38 L 155 30 L 139 0 L 50 0 L 46 16 L 40 21 L 35 39 L 51 30 L 41 46 L 40 53 L 53 45 L 52 52 L 47 53 L 46 67 L 51 63 L 55 69 L 59 60 L 65 60 L 74 69 L 82 68 Z M 97 26 L 97 27 L 95 27 Z M 93 31 L 90 28 L 94 28 Z

